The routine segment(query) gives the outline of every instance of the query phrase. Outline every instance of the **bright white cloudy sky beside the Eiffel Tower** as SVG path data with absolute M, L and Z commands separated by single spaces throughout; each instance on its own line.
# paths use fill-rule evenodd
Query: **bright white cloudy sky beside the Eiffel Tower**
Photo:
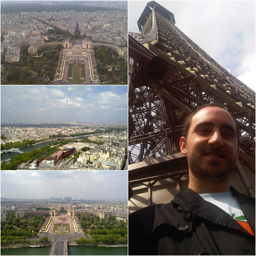
M 128 1 L 128 31 L 150 1 Z M 175 26 L 220 65 L 255 91 L 255 1 L 156 1 Z

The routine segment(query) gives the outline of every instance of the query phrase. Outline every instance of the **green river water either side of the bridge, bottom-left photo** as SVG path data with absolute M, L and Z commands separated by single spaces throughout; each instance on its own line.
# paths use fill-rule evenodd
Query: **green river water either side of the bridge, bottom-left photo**
M 128 247 L 68 246 L 68 255 L 128 255 Z M 51 246 L 1 249 L 1 255 L 49 255 Z

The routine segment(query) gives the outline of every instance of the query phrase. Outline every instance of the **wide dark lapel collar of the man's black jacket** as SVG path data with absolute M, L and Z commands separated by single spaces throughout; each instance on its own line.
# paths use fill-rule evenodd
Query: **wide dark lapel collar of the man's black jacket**
M 242 211 L 244 212 L 246 210 L 246 214 L 245 212 L 244 214 L 247 219 L 249 217 L 247 210 L 250 208 L 248 205 L 251 205 L 247 202 L 248 197 L 240 194 L 236 189 L 232 187 L 230 187 L 230 191 L 238 198 Z M 242 207 L 242 205 L 245 207 Z M 255 208 L 252 211 L 254 212 Z M 170 218 L 170 216 L 172 217 Z M 179 227 L 182 225 L 187 225 L 189 228 L 186 232 L 189 232 L 192 230 L 192 220 L 195 216 L 201 217 L 218 225 L 239 229 L 240 231 L 247 233 L 247 231 L 241 227 L 241 225 L 238 224 L 236 220 L 231 218 L 221 208 L 205 201 L 201 196 L 189 188 L 182 188 L 182 190 L 175 196 L 171 203 L 161 204 L 159 208 L 155 208 L 153 231 L 161 224 L 169 224 L 176 227 L 177 229 L 179 229 Z M 251 217 L 249 220 L 247 219 L 248 223 L 251 221 L 251 219 Z M 252 231 L 255 234 L 255 217 L 254 229 L 252 228 Z

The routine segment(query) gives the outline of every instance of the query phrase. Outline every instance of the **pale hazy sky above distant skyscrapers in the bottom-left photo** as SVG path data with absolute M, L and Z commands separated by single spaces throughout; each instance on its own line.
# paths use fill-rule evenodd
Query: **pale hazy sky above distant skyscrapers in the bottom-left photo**
M 127 199 L 127 171 L 1 171 L 1 197 Z

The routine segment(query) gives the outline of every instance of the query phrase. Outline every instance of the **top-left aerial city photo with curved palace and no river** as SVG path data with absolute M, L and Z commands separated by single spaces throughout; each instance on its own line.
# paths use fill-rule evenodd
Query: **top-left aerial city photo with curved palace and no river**
M 128 84 L 127 1 L 1 1 L 1 84 Z

